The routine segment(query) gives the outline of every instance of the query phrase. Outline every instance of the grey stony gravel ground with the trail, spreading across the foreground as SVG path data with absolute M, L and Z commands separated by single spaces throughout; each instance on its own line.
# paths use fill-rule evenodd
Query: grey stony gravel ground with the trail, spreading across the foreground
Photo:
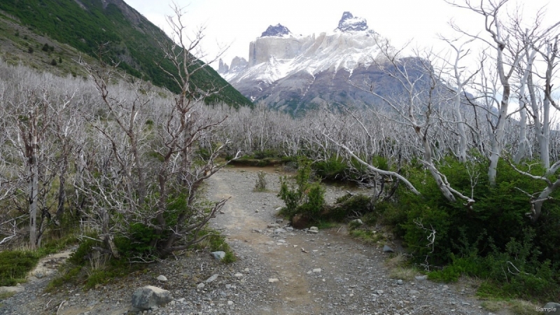
M 55 293 L 43 292 L 52 277 L 45 273 L 3 300 L 0 314 L 127 314 L 134 290 L 148 285 L 171 291 L 174 300 L 146 314 L 489 314 L 468 283 L 391 279 L 388 254 L 344 228 L 291 230 L 275 216 L 279 174 L 267 171 L 267 193 L 253 192 L 255 169 L 223 169 L 207 183 L 211 200 L 231 197 L 212 225 L 227 235 L 237 262 L 188 253 L 105 286 L 65 285 Z M 327 197 L 343 194 L 330 187 Z

